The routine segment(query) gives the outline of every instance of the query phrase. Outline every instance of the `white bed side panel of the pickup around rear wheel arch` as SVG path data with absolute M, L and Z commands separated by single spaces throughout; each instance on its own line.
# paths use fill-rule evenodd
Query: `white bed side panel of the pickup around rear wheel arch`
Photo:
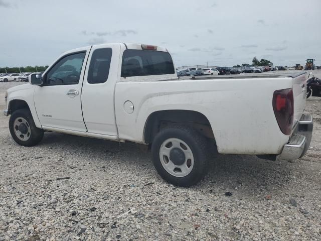
M 119 139 L 143 143 L 148 116 L 158 110 L 194 110 L 211 124 L 219 153 L 279 154 L 289 136 L 276 122 L 273 92 L 292 78 L 197 79 L 119 82 L 115 113 Z M 134 111 L 127 114 L 124 102 Z

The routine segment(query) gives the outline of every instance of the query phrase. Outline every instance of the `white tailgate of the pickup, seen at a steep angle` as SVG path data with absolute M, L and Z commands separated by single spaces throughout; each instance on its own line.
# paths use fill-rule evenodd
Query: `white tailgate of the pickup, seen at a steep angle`
M 306 101 L 306 73 L 300 72 L 292 76 L 293 78 L 293 98 L 294 98 L 294 119 L 293 127 L 300 120 L 304 111 Z

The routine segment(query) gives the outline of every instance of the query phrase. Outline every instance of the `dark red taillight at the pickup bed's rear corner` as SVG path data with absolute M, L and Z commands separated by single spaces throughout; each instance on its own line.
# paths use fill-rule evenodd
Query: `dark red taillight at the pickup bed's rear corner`
M 290 135 L 293 125 L 294 100 L 291 89 L 280 89 L 273 94 L 273 110 L 277 124 L 285 135 Z

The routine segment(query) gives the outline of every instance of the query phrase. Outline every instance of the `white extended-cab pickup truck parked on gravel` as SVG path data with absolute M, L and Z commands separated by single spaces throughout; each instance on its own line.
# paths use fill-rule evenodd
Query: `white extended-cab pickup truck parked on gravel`
M 168 182 L 191 186 L 209 149 L 275 160 L 302 157 L 312 116 L 303 114 L 305 73 L 178 78 L 166 48 L 103 44 L 61 55 L 42 75 L 8 89 L 13 139 L 45 131 L 151 146 Z

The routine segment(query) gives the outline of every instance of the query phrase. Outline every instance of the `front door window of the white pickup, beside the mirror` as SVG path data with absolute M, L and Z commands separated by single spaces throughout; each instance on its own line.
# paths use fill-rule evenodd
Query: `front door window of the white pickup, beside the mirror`
M 60 59 L 47 73 L 45 85 L 78 84 L 86 52 Z

